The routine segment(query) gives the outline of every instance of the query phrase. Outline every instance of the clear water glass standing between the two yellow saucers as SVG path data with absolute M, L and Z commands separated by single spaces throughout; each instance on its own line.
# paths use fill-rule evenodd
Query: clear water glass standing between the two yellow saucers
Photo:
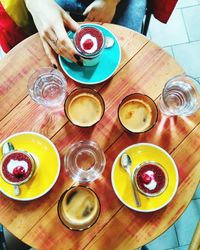
M 79 141 L 70 146 L 65 158 L 65 169 L 77 182 L 91 182 L 102 174 L 106 158 L 95 141 Z

